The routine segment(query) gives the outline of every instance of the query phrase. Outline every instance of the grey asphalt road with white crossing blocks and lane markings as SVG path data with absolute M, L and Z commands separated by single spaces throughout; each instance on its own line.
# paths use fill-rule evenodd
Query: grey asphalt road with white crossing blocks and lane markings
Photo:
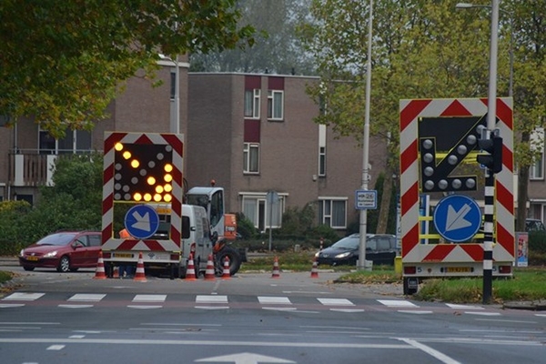
M 5 267 L 0 267 L 5 268 Z M 419 302 L 338 273 L 205 281 L 25 272 L 0 293 L 2 363 L 541 363 L 546 313 Z

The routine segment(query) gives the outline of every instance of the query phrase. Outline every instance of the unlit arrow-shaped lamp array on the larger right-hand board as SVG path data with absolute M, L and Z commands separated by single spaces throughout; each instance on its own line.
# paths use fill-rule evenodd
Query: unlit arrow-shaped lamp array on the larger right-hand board
M 424 192 L 475 191 L 476 176 L 449 177 L 463 159 L 478 146 L 478 126 L 453 147 L 440 163 L 436 163 L 436 142 L 433 137 L 420 139 L 421 181 Z

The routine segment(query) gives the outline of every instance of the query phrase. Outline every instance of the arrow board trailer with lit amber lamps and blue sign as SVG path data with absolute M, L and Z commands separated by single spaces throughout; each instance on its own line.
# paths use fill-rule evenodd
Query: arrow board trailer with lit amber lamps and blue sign
M 186 272 L 182 246 L 183 136 L 106 132 L 102 250 L 106 275 L 120 265 L 160 267 L 171 278 Z M 168 204 L 159 214 L 154 204 Z M 129 238 L 120 238 L 126 229 Z M 162 232 L 162 233 L 160 233 Z

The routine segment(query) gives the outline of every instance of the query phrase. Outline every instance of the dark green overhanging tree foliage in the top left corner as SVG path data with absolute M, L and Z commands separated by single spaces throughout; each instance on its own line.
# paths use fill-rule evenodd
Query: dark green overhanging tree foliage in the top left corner
M 0 4 L 0 116 L 53 136 L 90 130 L 129 77 L 153 77 L 158 53 L 253 43 L 236 0 L 5 0 Z

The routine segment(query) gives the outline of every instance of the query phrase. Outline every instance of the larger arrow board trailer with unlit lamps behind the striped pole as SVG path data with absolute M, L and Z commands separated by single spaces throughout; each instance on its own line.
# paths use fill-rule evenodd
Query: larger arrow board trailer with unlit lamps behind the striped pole
M 400 100 L 400 236 L 404 293 L 422 278 L 483 276 L 483 170 L 476 161 L 487 98 Z M 515 258 L 512 99 L 497 99 L 502 169 L 495 175 L 492 274 L 511 277 Z M 421 216 L 430 195 L 434 217 Z M 473 198 L 470 198 L 473 197 Z M 475 202 L 478 201 L 478 203 Z M 423 233 L 434 222 L 436 231 Z M 432 225 L 432 224 L 430 224 Z

